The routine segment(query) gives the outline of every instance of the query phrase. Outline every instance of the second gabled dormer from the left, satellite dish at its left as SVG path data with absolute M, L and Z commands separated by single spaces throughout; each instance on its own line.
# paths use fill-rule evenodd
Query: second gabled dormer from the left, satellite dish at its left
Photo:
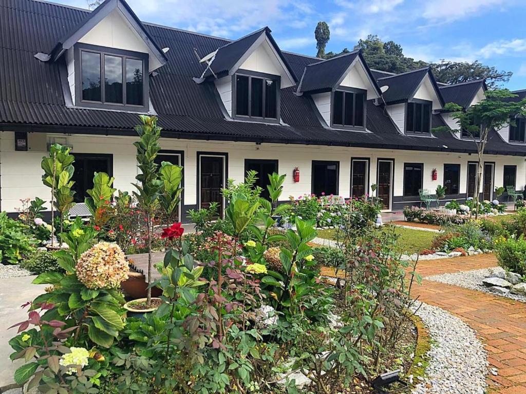
M 205 71 L 194 80 L 214 82 L 228 118 L 280 122 L 281 89 L 296 80 L 268 27 L 218 48 L 201 63 Z

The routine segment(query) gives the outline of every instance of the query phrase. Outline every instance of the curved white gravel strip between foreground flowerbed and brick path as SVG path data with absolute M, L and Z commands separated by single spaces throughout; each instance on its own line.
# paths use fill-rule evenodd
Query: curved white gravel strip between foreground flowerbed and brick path
M 436 306 L 422 303 L 416 314 L 428 328 L 432 345 L 426 376 L 412 394 L 484 394 L 487 354 L 474 331 Z

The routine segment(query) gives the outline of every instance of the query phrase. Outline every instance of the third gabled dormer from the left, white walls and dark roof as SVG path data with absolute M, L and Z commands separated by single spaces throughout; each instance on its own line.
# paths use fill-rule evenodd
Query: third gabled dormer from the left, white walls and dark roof
M 326 127 L 366 130 L 367 100 L 380 97 L 360 50 L 305 67 L 298 95 L 310 95 Z

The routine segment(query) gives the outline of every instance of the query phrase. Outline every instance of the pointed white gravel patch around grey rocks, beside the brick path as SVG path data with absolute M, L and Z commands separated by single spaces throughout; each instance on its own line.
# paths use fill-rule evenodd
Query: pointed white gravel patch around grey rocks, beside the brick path
M 493 295 L 498 295 L 501 297 L 511 298 L 517 301 L 526 302 L 526 297 L 518 294 L 501 294 L 495 293 L 490 290 L 489 287 L 482 285 L 482 280 L 491 275 L 501 276 L 504 274 L 504 269 L 501 267 L 494 268 L 483 268 L 475 269 L 474 271 L 462 271 L 456 272 L 454 274 L 441 274 L 428 276 L 426 279 L 433 282 L 446 283 L 448 285 L 454 285 L 459 287 L 465 287 L 472 290 L 478 290 L 479 292 L 489 293 Z

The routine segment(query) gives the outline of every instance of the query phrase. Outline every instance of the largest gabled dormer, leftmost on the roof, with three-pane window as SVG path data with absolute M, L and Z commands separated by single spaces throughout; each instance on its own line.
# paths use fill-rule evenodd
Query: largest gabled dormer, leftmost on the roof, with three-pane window
M 124 0 L 106 0 L 39 60 L 57 61 L 67 106 L 149 112 L 149 75 L 164 51 Z

